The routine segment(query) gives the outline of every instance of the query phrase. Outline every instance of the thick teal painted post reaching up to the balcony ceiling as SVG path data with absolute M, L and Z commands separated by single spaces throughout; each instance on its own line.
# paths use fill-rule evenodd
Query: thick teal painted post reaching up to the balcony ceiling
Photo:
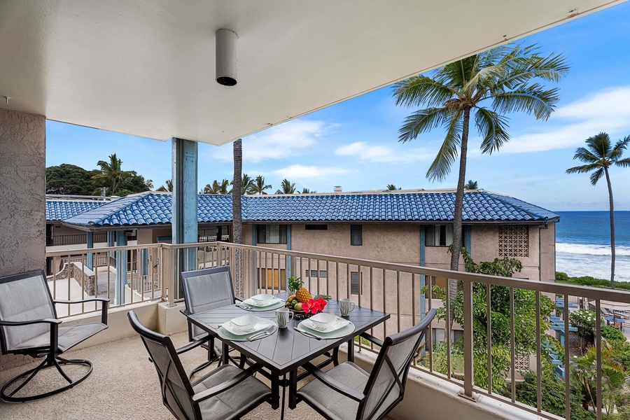
M 173 244 L 194 244 L 199 239 L 197 228 L 197 162 L 198 148 L 195 141 L 172 139 L 172 242 Z M 179 270 L 174 269 L 175 296 L 179 293 L 179 274 L 196 269 L 197 248 L 181 249 L 172 262 L 179 262 Z M 175 265 L 174 267 L 177 267 Z M 179 271 L 179 272 L 178 272 Z

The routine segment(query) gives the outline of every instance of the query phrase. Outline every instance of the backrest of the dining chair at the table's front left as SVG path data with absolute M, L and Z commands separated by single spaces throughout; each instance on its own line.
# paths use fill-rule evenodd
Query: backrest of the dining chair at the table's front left
M 149 330 L 135 311 L 127 314 L 132 328 L 140 335 L 160 378 L 162 402 L 180 420 L 201 419 L 198 405 L 193 404 L 193 386 L 186 376 L 170 337 Z

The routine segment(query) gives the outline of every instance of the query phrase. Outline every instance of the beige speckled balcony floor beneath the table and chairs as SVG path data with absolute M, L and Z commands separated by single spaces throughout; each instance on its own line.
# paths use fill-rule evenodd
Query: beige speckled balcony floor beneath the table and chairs
M 176 346 L 182 346 L 188 342 L 188 336 L 185 332 L 172 335 L 172 339 Z M 94 371 L 90 377 L 69 391 L 43 400 L 23 404 L 0 401 L 0 419 L 173 419 L 172 414 L 162 405 L 158 374 L 148 361 L 148 353 L 144 349 L 140 337 L 119 339 L 98 346 L 68 351 L 62 356 L 69 359 L 85 358 L 90 360 L 94 364 Z M 186 370 L 190 372 L 204 361 L 204 356 L 207 356 L 204 349 L 193 349 L 183 354 L 181 360 Z M 0 384 L 5 384 L 10 378 L 35 365 L 36 363 L 31 363 L 1 371 Z M 209 369 L 213 367 L 216 365 Z M 82 370 L 83 367 L 76 367 L 76 369 Z M 72 371 L 67 370 L 67 372 L 72 377 Z M 197 374 L 195 377 L 201 377 L 201 374 Z M 61 383 L 59 380 L 63 381 L 54 368 L 45 370 L 44 373 L 40 372 L 36 379 L 38 380 L 35 381 L 34 379 L 33 384 L 29 384 L 32 386 L 29 392 L 37 392 L 36 388 L 49 386 L 53 381 L 59 384 Z M 280 409 L 273 410 L 266 403 L 243 417 L 244 420 L 279 418 Z M 321 418 L 319 414 L 304 402 L 298 404 L 295 410 L 286 409 L 285 414 L 287 420 L 319 418 Z

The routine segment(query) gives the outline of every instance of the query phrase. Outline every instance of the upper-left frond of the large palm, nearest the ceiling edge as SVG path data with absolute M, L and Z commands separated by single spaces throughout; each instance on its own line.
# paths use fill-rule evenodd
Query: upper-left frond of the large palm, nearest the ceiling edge
M 393 86 L 393 97 L 400 106 L 440 106 L 451 97 L 458 96 L 449 85 L 426 76 L 414 76 Z

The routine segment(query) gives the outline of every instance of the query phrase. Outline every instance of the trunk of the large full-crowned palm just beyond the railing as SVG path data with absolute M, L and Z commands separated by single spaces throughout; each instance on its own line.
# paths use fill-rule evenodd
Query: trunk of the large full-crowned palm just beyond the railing
M 451 270 L 459 270 L 459 254 L 461 247 L 461 218 L 463 213 L 463 192 L 466 179 L 466 153 L 468 153 L 468 127 L 470 125 L 470 109 L 466 109 L 463 115 L 463 126 L 461 130 L 461 155 L 459 158 L 459 176 L 457 180 L 457 191 L 455 193 L 455 214 L 453 216 L 453 246 L 451 247 Z M 457 297 L 457 280 L 449 279 L 449 299 L 453 302 Z M 453 310 L 451 313 L 451 323 L 453 322 Z

